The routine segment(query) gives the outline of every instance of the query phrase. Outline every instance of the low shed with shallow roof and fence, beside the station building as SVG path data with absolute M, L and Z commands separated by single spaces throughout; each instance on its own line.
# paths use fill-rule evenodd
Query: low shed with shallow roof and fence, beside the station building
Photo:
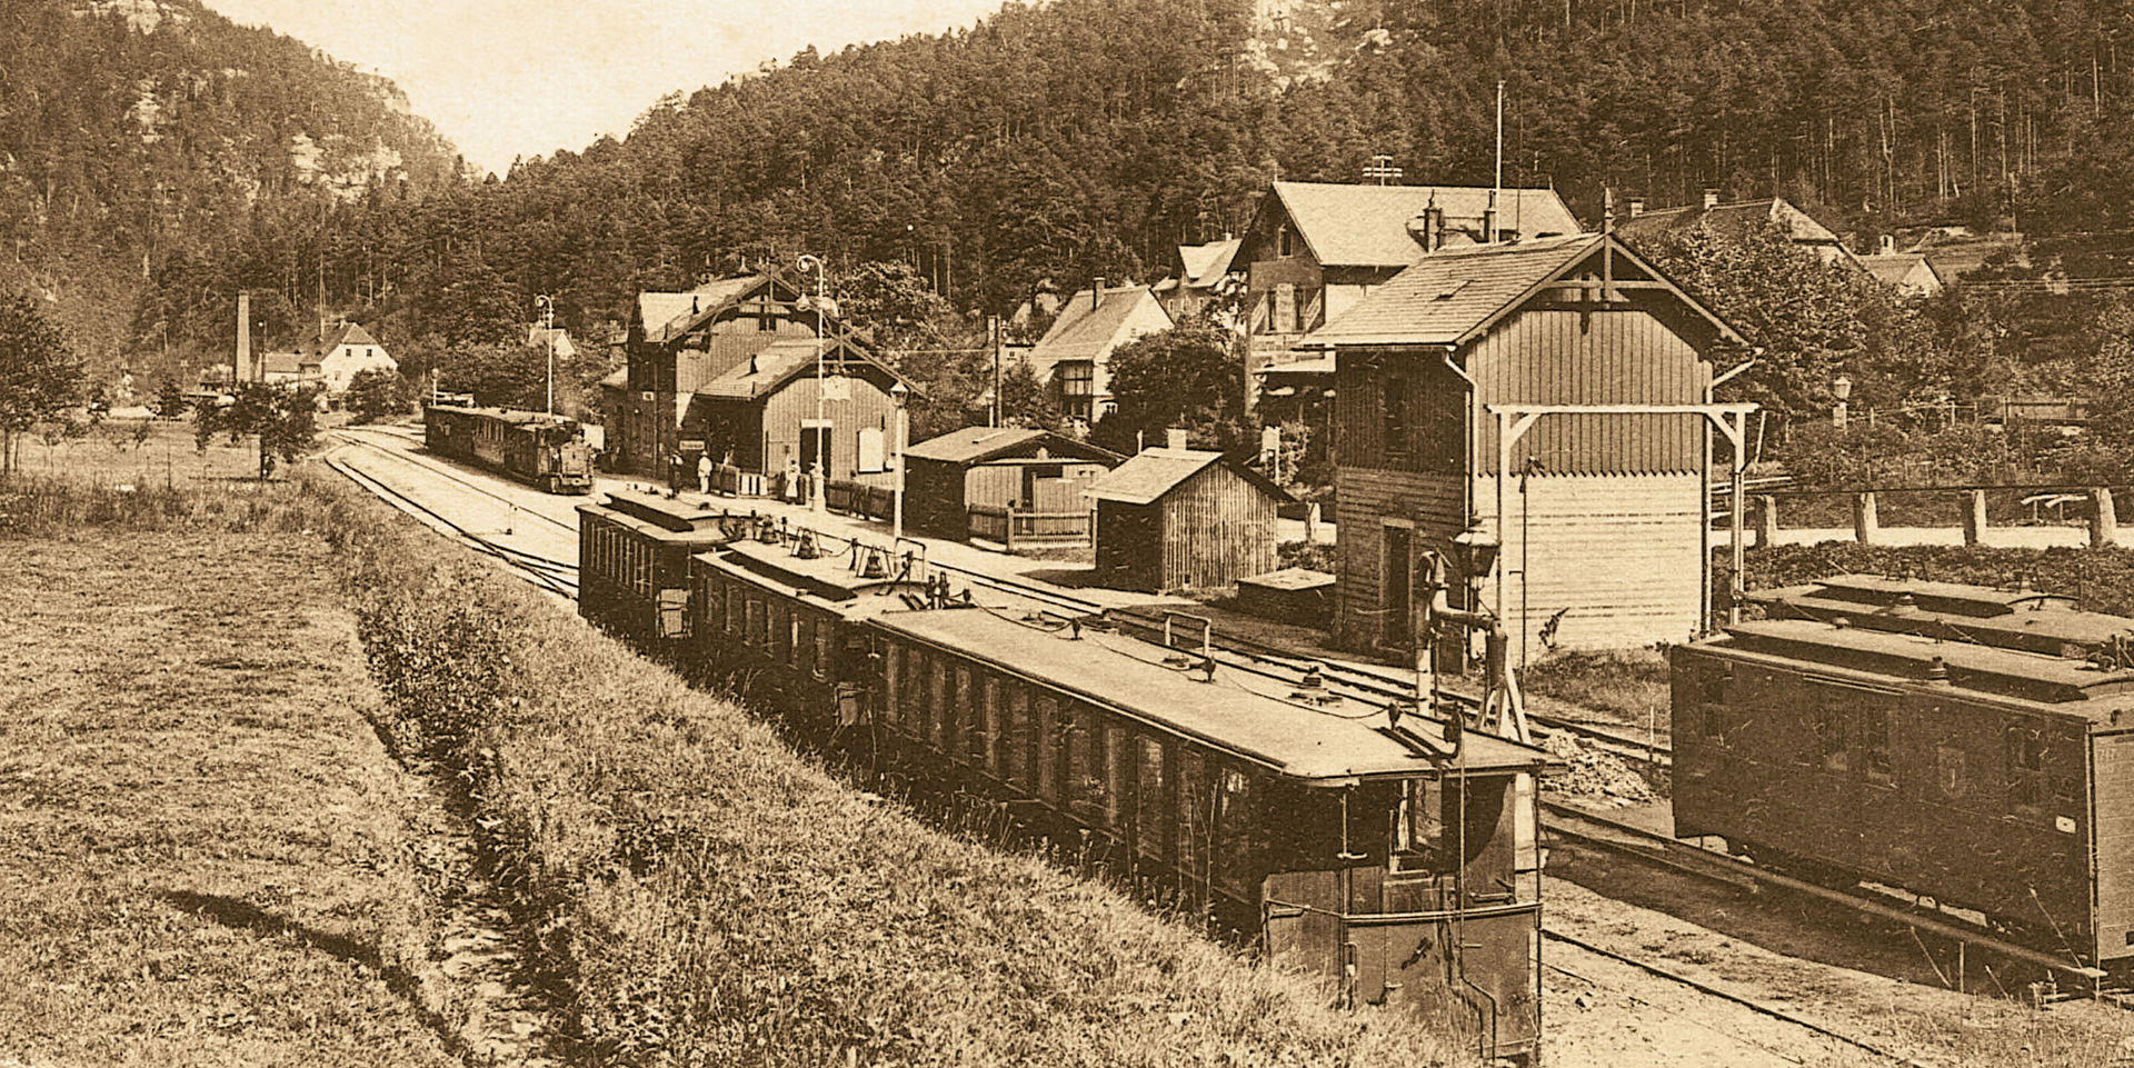
M 965 426 L 905 450 L 905 516 L 969 537 L 971 509 L 1065 516 L 1088 537 L 1084 490 L 1120 456 L 1050 431 Z

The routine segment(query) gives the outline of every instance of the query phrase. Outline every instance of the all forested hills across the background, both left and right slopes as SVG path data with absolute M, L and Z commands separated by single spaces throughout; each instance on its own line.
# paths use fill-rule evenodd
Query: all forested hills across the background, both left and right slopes
M 2134 203 L 2123 0 L 1007 4 L 670 94 L 487 183 L 442 181 L 446 149 L 386 87 L 192 0 L 17 6 L 6 226 L 62 303 L 130 315 L 137 354 L 218 354 L 239 286 L 280 294 L 282 324 L 324 288 L 420 350 L 512 337 L 534 294 L 583 335 L 638 288 L 796 252 L 901 260 L 956 311 L 1009 311 L 1046 279 L 1161 275 L 1274 177 L 1353 181 L 1385 153 L 1406 181 L 1490 181 L 1500 81 L 1504 179 L 1590 222 L 1603 188 L 1775 192 L 1863 241 L 2113 230 Z M 380 145 L 395 177 L 367 181 Z

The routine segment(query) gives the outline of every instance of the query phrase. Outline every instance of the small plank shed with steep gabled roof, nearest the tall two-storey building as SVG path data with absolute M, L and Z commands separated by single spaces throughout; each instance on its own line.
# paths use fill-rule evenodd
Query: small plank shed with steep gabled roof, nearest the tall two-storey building
M 1097 580 L 1169 593 L 1274 569 L 1274 509 L 1289 495 L 1221 452 L 1152 448 L 1097 480 Z

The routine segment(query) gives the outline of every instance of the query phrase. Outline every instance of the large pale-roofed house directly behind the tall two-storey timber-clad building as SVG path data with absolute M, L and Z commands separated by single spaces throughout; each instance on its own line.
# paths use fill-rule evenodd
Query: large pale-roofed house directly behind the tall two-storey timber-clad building
M 1246 377 L 1428 252 L 1583 232 L 1556 190 L 1276 181 L 1229 269 L 1246 275 Z

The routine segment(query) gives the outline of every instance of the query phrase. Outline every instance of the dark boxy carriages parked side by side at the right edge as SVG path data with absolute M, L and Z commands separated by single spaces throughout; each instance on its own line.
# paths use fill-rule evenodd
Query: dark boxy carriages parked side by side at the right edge
M 1837 576 L 1671 650 L 1675 836 L 2134 972 L 2134 618 Z

